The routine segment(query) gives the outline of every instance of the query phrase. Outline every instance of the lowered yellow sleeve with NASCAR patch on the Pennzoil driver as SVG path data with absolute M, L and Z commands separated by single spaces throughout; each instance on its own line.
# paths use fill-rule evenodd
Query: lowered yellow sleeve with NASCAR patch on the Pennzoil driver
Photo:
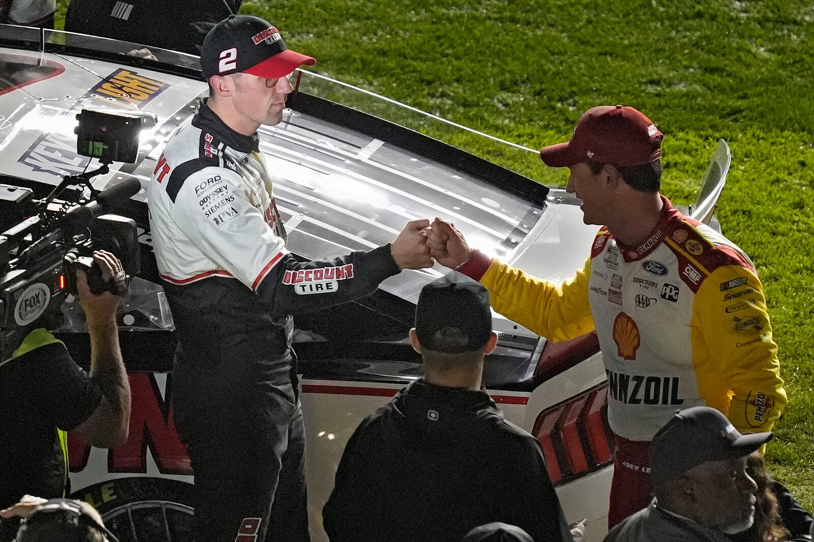
M 786 391 L 757 275 L 739 265 L 715 269 L 698 288 L 691 325 L 698 387 L 707 405 L 726 414 L 737 431 L 769 431 Z

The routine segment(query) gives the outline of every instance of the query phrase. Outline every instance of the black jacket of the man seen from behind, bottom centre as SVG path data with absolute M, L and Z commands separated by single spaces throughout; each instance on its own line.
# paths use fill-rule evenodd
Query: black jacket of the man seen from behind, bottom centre
M 322 515 L 331 542 L 459 542 L 488 522 L 571 540 L 536 439 L 486 391 L 423 379 L 361 422 Z

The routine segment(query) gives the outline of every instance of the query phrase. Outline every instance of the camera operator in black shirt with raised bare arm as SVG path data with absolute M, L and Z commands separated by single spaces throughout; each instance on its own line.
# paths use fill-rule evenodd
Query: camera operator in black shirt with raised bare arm
M 94 262 L 105 282 L 122 271 L 120 260 L 107 251 L 95 251 Z M 115 448 L 127 439 L 130 388 L 116 328 L 119 298 L 92 294 L 81 271 L 77 291 L 90 334 L 90 375 L 44 329 L 52 323 L 46 315 L 0 363 L 0 509 L 25 493 L 50 498 L 68 492 L 64 431 L 98 448 Z M 16 526 L 8 523 L 0 524 L 0 542 L 13 538 Z

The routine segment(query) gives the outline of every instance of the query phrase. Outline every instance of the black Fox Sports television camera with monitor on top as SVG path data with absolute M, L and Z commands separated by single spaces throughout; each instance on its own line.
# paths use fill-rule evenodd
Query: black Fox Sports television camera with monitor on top
M 77 120 L 77 151 L 97 158 L 100 168 L 63 177 L 43 199 L 28 188 L 0 184 L 0 216 L 4 227 L 11 224 L 0 234 L 0 361 L 11 356 L 35 322 L 36 327 L 57 322 L 53 317 L 60 305 L 77 293 L 77 269 L 87 273 L 97 295 L 125 295 L 129 278 L 139 271 L 135 222 L 108 213 L 135 195 L 141 183 L 129 178 L 98 192 L 90 180 L 108 173 L 114 161 L 135 162 L 142 120 L 89 109 Z M 126 278 L 105 282 L 94 250 L 115 254 Z

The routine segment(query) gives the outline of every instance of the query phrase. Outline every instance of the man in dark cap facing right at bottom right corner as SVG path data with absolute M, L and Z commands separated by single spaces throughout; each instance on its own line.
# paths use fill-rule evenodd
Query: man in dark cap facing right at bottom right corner
M 728 542 L 755 517 L 755 480 L 746 456 L 772 433 L 741 435 L 716 409 L 676 413 L 655 435 L 650 506 L 619 523 L 606 542 Z

